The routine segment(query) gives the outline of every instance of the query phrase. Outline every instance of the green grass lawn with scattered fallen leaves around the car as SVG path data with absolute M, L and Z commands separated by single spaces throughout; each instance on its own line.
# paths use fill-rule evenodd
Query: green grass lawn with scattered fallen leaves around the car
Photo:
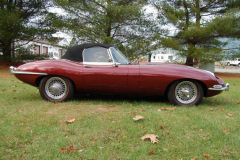
M 47 102 L 1 67 L 0 159 L 240 159 L 240 75 L 222 78 L 229 92 L 163 110 L 174 106 L 158 97 Z

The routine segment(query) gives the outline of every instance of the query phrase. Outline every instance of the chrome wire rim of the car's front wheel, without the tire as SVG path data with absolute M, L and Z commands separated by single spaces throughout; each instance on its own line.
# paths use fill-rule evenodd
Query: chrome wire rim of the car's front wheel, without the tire
M 188 105 L 197 99 L 198 88 L 191 81 L 182 81 L 177 84 L 174 95 L 178 102 Z

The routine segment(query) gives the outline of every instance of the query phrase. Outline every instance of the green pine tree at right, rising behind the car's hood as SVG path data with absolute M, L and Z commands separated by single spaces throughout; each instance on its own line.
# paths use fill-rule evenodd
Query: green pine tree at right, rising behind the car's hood
M 174 30 L 161 35 L 160 44 L 178 50 L 187 57 L 187 65 L 192 66 L 194 59 L 220 60 L 226 43 L 219 38 L 239 36 L 239 0 L 155 0 L 153 4 L 162 25 Z

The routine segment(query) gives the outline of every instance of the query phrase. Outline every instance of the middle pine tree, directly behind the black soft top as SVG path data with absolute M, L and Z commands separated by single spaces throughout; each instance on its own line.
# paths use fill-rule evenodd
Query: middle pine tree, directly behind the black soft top
M 70 31 L 78 44 L 113 44 L 137 57 L 150 50 L 159 31 L 144 12 L 144 0 L 54 0 L 54 4 L 68 13 L 55 24 Z

